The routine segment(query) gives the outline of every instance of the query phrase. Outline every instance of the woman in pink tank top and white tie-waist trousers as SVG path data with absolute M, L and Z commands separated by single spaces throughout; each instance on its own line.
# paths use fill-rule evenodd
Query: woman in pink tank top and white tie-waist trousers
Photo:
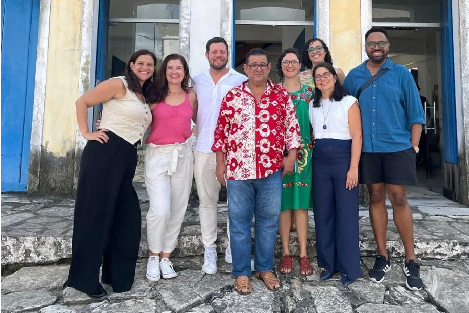
M 187 210 L 193 176 L 188 139 L 197 116 L 196 93 L 189 88 L 189 66 L 179 54 L 168 55 L 149 94 L 151 133 L 145 151 L 145 185 L 150 199 L 147 279 L 177 276 L 169 261 Z

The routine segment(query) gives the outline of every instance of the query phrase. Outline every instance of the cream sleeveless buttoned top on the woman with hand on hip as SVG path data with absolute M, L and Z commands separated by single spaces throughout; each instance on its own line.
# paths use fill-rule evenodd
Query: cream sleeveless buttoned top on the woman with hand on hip
M 122 99 L 111 99 L 103 103 L 103 113 L 99 128 L 106 128 L 132 145 L 142 141 L 145 131 L 151 124 L 150 106 L 142 103 L 136 94 L 129 90 L 124 76 L 119 78 L 127 90 Z

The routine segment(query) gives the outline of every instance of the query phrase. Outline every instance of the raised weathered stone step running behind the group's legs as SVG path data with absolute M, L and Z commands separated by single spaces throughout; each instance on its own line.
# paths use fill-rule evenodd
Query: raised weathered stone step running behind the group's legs
M 142 210 L 142 238 L 139 256 L 148 253 L 146 242 L 146 212 L 148 195 L 144 188 L 137 188 Z M 454 203 L 437 194 L 409 193 L 409 203 L 415 220 L 417 258 L 448 260 L 469 258 L 469 208 Z M 439 206 L 441 204 L 441 206 Z M 2 266 L 11 264 L 45 264 L 67 260 L 71 256 L 73 208 L 71 198 L 28 197 L 2 194 Z M 198 202 L 190 200 L 174 257 L 203 254 Z M 388 218 L 392 207 L 388 203 Z M 309 211 L 310 229 L 308 249 L 315 255 L 315 233 L 312 211 Z M 374 256 L 376 244 L 371 229 L 368 208 L 360 207 L 360 249 L 363 256 Z M 218 205 L 218 251 L 227 245 L 227 204 Z M 292 232 L 291 254 L 299 253 L 299 246 Z M 281 247 L 280 237 L 276 251 Z M 393 257 L 404 255 L 401 239 L 393 221 L 388 223 L 388 250 Z

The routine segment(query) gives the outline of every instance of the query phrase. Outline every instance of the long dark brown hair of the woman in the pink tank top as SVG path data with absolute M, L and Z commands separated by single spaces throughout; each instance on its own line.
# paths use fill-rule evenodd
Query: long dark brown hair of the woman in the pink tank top
M 156 74 L 156 83 L 152 84 L 152 88 L 148 92 L 147 101 L 149 103 L 163 102 L 169 94 L 168 80 L 166 78 L 166 68 L 168 62 L 172 60 L 181 61 L 182 67 L 184 68 L 184 78 L 181 82 L 182 90 L 189 92 L 191 89 L 189 82 L 191 85 L 194 84 L 194 81 L 189 75 L 189 65 L 187 64 L 186 59 L 180 54 L 172 53 L 163 60 L 163 63 L 161 63 L 161 66 L 158 69 L 158 73 Z

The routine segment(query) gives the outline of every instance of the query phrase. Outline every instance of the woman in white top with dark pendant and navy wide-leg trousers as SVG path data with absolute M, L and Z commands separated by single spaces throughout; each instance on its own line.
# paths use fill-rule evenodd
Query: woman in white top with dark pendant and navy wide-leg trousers
M 358 162 L 362 122 L 357 100 L 347 95 L 330 63 L 312 69 L 316 84 L 310 122 L 313 153 L 314 223 L 319 278 L 336 271 L 348 285 L 362 275 L 358 228 Z

